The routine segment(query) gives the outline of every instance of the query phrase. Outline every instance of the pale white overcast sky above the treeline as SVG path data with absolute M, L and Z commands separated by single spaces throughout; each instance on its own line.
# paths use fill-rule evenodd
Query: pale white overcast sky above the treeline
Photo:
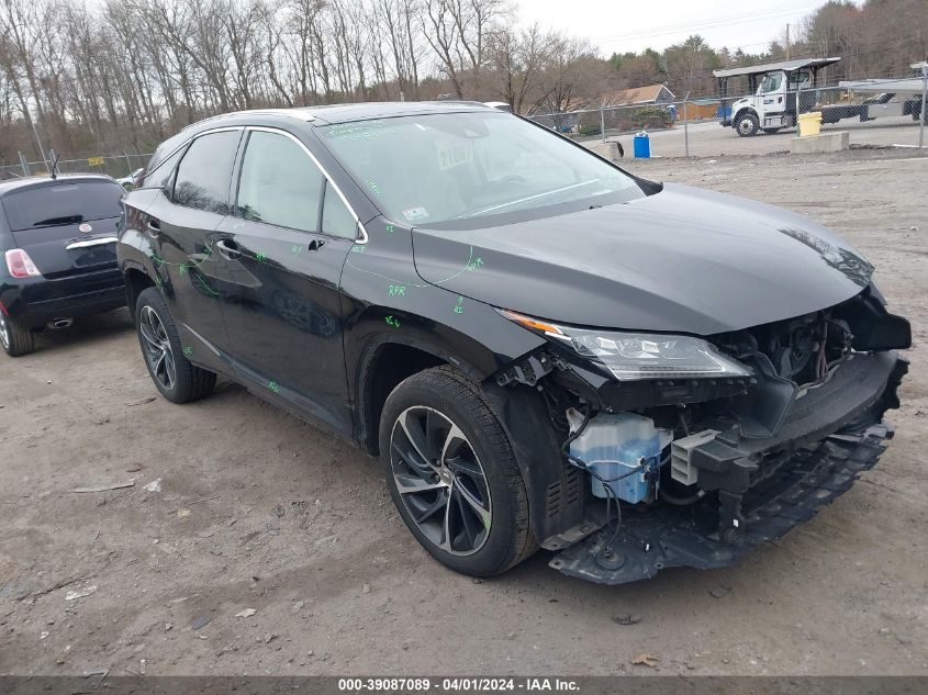
M 519 24 L 585 36 L 603 56 L 613 52 L 661 51 L 700 34 L 713 48 L 741 47 L 746 53 L 782 41 L 786 23 L 800 21 L 826 0 L 519 0 Z

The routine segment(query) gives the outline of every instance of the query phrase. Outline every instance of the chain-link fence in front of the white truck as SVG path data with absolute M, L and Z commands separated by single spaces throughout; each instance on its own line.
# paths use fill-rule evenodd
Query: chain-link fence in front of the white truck
M 849 147 L 925 152 L 924 77 L 858 80 L 772 94 L 708 97 L 529 116 L 584 144 L 618 142 L 625 157 L 767 155 L 798 149 L 798 127 L 847 132 Z M 821 114 L 817 116 L 808 114 Z M 647 134 L 647 146 L 635 136 Z M 843 136 L 836 136 L 842 139 Z M 636 149 L 638 150 L 636 155 Z

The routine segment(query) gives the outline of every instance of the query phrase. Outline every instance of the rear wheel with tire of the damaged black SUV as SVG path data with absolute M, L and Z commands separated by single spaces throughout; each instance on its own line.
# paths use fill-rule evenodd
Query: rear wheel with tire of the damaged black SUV
M 212 392 L 216 375 L 183 356 L 174 317 L 156 288 L 146 288 L 138 294 L 135 333 L 148 374 L 168 401 L 190 403 Z

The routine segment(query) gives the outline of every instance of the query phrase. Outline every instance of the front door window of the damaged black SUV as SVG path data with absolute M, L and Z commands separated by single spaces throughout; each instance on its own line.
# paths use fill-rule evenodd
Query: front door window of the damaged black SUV
M 315 232 L 324 180 L 315 162 L 292 139 L 254 131 L 242 160 L 236 214 Z

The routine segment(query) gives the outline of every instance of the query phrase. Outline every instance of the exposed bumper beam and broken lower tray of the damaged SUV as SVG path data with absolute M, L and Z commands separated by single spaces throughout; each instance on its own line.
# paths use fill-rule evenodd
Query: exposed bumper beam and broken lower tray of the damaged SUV
M 778 437 L 705 445 L 693 460 L 706 472 L 717 469 L 709 483 L 724 482 L 696 504 L 625 507 L 614 540 L 611 524 L 550 565 L 602 584 L 648 579 L 671 567 L 722 568 L 812 518 L 876 463 L 893 436 L 883 414 L 898 406 L 896 388 L 908 362 L 891 351 L 861 358 L 859 367 L 866 369 L 848 370 L 818 403 L 796 408 Z

